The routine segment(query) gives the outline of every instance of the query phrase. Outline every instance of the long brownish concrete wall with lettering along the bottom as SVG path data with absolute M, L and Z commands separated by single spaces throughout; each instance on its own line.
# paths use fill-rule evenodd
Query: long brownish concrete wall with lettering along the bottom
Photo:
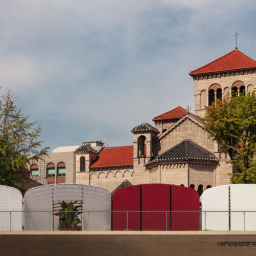
M 8 256 L 254 256 L 255 241 L 255 231 L 0 232 L 1 255 Z M 220 247 L 221 242 L 248 242 L 248 244 Z M 252 246 L 248 246 L 250 242 Z

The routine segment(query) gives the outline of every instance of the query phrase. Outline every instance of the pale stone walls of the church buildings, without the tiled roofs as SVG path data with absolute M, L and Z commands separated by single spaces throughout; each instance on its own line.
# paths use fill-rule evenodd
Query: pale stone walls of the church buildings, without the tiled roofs
M 230 94 L 234 87 L 237 88 L 238 94 L 240 89 L 242 91 L 242 87 L 245 93 L 255 91 L 256 68 L 206 74 L 192 74 L 190 72 L 190 75 L 195 81 L 196 116 L 190 114 L 187 110 L 186 114 L 183 113 L 183 116 L 178 118 L 176 116 L 161 120 L 158 116 L 157 119 L 154 119 L 156 127 L 146 122 L 135 127 L 132 130 L 134 134 L 133 156 L 131 156 L 131 161 L 128 161 L 129 164 L 106 164 L 93 167 L 94 163 L 102 158 L 101 152 L 106 150 L 106 147 L 103 146 L 101 141 L 88 145 L 84 143 L 81 147 L 65 147 L 64 151 L 69 152 L 61 152 L 61 147 L 57 148 L 53 152 L 58 153 L 49 154 L 44 159 L 34 163 L 38 165 L 38 176 L 32 178 L 37 179 L 42 184 L 58 182 L 89 184 L 103 187 L 110 192 L 125 180 L 134 185 L 168 183 L 184 185 L 198 190 L 229 184 L 230 176 L 228 174 L 232 173 L 232 167 L 227 163 L 229 156 L 220 152 L 218 144 L 209 138 L 209 134 L 204 130 L 205 123 L 200 117 L 205 115 L 205 106 L 210 104 L 210 90 L 211 97 L 214 97 L 214 99 L 220 95 Z M 182 109 L 181 107 L 178 108 Z M 179 112 L 179 115 L 181 112 Z M 166 115 L 166 113 L 163 115 Z M 154 161 L 158 157 L 160 159 L 161 154 L 184 140 L 199 145 L 204 152 L 209 152 L 209 155 L 214 156 L 214 159 L 179 158 Z M 146 141 L 145 145 L 144 141 Z M 79 148 L 77 150 L 77 147 L 80 150 Z M 127 147 L 131 148 L 131 146 Z M 83 150 L 83 148 L 87 149 Z M 125 158 L 126 156 L 120 155 L 121 157 Z M 117 156 L 118 158 L 119 156 Z M 82 159 L 84 162 L 81 162 Z M 65 177 L 58 177 L 57 166 L 60 162 L 65 163 Z M 50 163 L 55 168 L 54 177 L 48 177 L 47 166 Z

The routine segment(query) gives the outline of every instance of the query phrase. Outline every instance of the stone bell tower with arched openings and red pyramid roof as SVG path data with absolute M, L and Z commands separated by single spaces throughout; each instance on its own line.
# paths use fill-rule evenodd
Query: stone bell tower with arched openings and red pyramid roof
M 205 106 L 235 92 L 256 90 L 256 61 L 237 48 L 189 73 L 195 81 L 195 114 L 203 117 Z

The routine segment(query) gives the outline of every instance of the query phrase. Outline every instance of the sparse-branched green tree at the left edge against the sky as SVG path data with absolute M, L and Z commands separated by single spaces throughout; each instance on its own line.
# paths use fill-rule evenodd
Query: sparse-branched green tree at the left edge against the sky
M 27 163 L 46 155 L 49 147 L 40 148 L 40 125 L 35 127 L 15 100 L 10 91 L 0 99 L 0 184 L 22 190 L 29 179 Z

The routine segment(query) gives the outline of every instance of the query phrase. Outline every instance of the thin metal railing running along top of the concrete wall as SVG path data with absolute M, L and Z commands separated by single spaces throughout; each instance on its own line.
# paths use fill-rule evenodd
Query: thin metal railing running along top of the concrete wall
M 2 230 L 256 230 L 256 211 L 2 210 Z

